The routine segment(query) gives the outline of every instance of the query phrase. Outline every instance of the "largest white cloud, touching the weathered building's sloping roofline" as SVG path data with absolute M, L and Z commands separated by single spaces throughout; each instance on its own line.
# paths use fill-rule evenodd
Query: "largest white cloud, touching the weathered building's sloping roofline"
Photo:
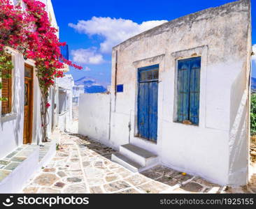
M 100 52 L 111 53 L 112 47 L 143 31 L 151 29 L 166 20 L 152 20 L 138 24 L 132 20 L 111 17 L 92 17 L 91 20 L 79 20 L 78 24 L 69 23 L 73 29 L 88 36 L 98 35 L 104 38 Z

